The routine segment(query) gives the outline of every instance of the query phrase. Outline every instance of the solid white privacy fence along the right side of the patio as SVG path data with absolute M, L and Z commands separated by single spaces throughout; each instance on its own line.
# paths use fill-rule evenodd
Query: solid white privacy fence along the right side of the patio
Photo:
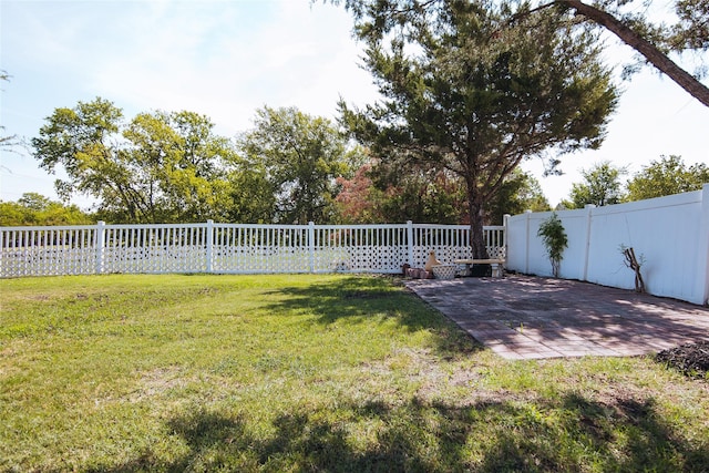
M 561 210 L 568 236 L 559 276 L 634 289 L 635 274 L 624 264 L 621 246 L 644 259 L 647 291 L 693 304 L 709 299 L 709 184 L 702 191 L 605 207 Z M 552 275 L 537 237 L 551 213 L 507 219 L 507 269 Z

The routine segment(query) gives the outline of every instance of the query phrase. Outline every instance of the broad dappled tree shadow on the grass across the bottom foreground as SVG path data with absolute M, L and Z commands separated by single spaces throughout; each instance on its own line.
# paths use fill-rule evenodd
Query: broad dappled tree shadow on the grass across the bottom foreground
M 172 419 L 186 445 L 161 462 L 153 452 L 94 471 L 505 472 L 706 471 L 709 445 L 672 429 L 651 400 L 485 401 L 464 405 L 349 403 L 296 409 L 265 433 L 219 412 Z M 376 426 L 374 426 L 376 425 Z M 356 433 L 352 433 L 356 432 Z

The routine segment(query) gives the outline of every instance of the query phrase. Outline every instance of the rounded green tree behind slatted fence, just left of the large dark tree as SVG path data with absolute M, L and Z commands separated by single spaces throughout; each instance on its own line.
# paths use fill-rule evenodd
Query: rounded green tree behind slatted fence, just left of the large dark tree
M 329 120 L 295 107 L 257 111 L 238 146 L 249 167 L 263 169 L 275 195 L 274 219 L 285 224 L 333 219 L 336 179 L 361 158 Z

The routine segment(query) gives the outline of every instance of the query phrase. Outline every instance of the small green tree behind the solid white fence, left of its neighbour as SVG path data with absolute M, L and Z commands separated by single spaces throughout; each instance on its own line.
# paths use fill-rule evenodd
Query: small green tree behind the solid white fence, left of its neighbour
M 589 169 L 580 172 L 583 183 L 572 184 L 571 200 L 564 200 L 566 208 L 584 208 L 587 204 L 597 207 L 619 204 L 625 195 L 620 176 L 626 171 L 610 164 L 609 161 L 596 164 Z

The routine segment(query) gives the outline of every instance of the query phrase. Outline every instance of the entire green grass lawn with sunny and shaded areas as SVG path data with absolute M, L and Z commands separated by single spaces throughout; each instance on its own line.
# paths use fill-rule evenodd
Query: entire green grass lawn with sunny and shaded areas
M 707 380 L 505 361 L 392 278 L 0 290 L 0 471 L 709 470 Z

